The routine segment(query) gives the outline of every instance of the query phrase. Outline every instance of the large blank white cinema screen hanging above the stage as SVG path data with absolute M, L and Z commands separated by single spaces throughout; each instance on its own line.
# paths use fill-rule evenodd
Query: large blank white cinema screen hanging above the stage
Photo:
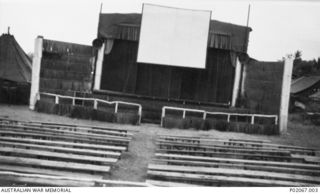
M 144 4 L 137 61 L 205 68 L 210 11 Z

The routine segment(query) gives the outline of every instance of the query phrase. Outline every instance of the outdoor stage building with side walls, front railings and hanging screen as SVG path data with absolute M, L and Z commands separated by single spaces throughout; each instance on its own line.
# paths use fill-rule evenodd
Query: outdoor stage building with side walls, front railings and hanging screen
M 38 37 L 30 108 L 120 123 L 161 123 L 168 128 L 285 131 L 290 75 L 284 74 L 284 67 L 289 69 L 292 63 L 250 58 L 250 27 L 210 20 L 211 12 L 204 12 L 206 17 L 199 18 L 205 27 L 197 29 L 192 20 L 183 23 L 189 13 L 181 12 L 182 24 L 173 29 L 165 26 L 164 19 L 146 15 L 151 22 L 146 22 L 144 35 L 141 14 L 101 13 L 93 46 Z M 160 30 L 171 32 L 163 37 L 167 42 L 159 40 Z M 177 33 L 187 35 L 173 43 Z M 191 41 L 199 34 L 205 36 L 204 43 Z M 198 48 L 201 45 L 204 48 Z M 175 51 L 178 54 L 172 54 Z M 142 52 L 145 56 L 138 55 Z M 146 61 L 139 62 L 138 57 Z

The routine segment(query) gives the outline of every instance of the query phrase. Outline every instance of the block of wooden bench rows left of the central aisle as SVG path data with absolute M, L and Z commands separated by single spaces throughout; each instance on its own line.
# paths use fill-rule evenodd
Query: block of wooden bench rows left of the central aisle
M 43 186 L 96 186 L 135 131 L 0 118 L 0 177 Z M 124 184 L 126 185 L 126 184 Z

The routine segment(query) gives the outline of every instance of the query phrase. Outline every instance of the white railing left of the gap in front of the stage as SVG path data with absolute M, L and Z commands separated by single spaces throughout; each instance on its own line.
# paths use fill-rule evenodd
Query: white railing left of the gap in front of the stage
M 141 116 L 142 116 L 142 106 L 137 103 L 131 103 L 131 102 L 123 102 L 123 101 L 106 101 L 101 100 L 97 98 L 84 98 L 84 97 L 74 97 L 74 96 L 64 96 L 59 94 L 53 94 L 53 93 L 46 93 L 46 92 L 40 92 L 37 94 L 37 100 L 40 100 L 40 95 L 46 95 L 46 96 L 53 96 L 55 97 L 55 104 L 59 104 L 59 99 L 72 99 L 72 105 L 74 106 L 76 104 L 76 100 L 83 100 L 83 101 L 91 101 L 93 102 L 93 109 L 97 110 L 99 103 L 102 104 L 108 104 L 108 105 L 115 105 L 114 112 L 117 113 L 119 109 L 119 104 L 128 105 L 128 106 L 135 106 L 138 107 L 138 116 L 139 121 L 138 123 L 141 123 Z

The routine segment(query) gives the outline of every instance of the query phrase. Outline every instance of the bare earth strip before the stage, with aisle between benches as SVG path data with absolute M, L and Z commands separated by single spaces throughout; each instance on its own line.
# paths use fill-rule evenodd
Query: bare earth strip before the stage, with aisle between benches
M 203 136 L 216 138 L 242 138 L 270 140 L 273 143 L 304 146 L 320 150 L 320 127 L 290 121 L 287 134 L 282 136 L 250 135 L 243 133 L 220 132 L 217 130 L 197 131 L 193 129 L 164 129 L 156 124 L 142 124 L 140 126 L 121 125 L 99 121 L 73 119 L 63 116 L 38 113 L 31 111 L 27 106 L 12 106 L 0 104 L 0 116 L 25 121 L 57 122 L 65 124 L 95 125 L 112 128 L 135 129 L 138 132 L 130 142 L 129 151 L 124 153 L 121 160 L 111 170 L 106 179 L 128 180 L 144 182 L 147 174 L 147 165 L 151 162 L 155 151 L 155 139 L 158 134 Z M 319 156 L 320 153 L 318 152 Z

